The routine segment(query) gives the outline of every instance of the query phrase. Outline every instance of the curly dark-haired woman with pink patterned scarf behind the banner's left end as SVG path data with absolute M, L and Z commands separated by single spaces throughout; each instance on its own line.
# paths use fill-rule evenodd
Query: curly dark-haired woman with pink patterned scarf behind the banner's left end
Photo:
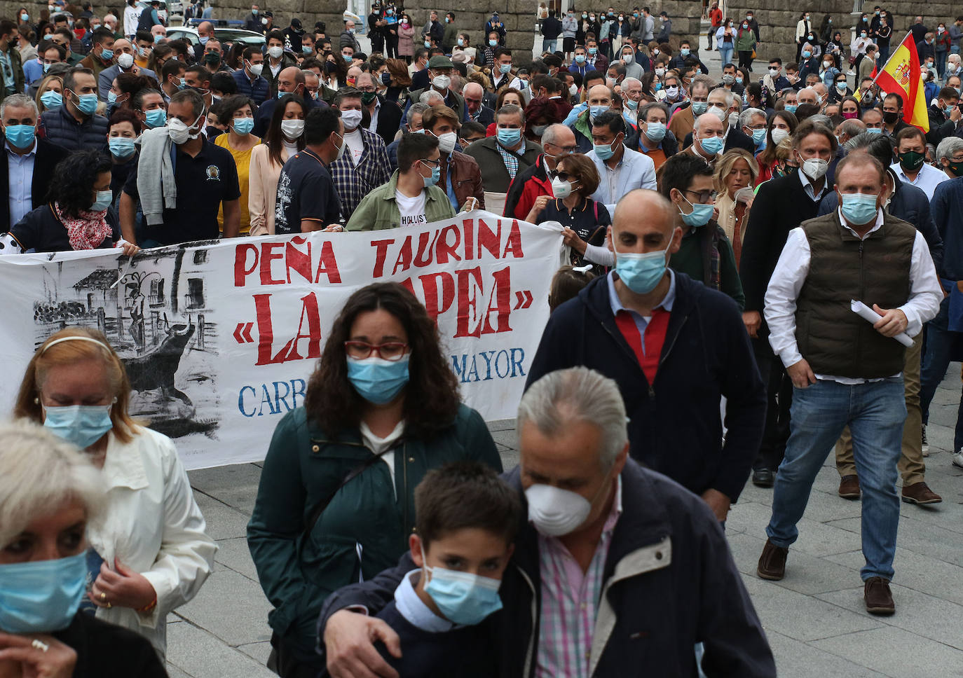
M 61 161 L 47 197 L 50 202 L 0 236 L 0 254 L 122 247 L 124 254 L 133 255 L 140 249 L 120 238 L 117 213 L 108 209 L 111 159 L 100 151 L 74 151 Z

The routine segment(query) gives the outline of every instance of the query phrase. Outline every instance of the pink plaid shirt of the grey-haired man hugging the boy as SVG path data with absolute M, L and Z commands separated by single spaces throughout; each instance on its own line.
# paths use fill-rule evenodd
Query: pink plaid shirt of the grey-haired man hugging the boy
M 602 595 L 602 573 L 612 542 L 612 530 L 621 513 L 622 479 L 619 477 L 612 511 L 586 572 L 560 540 L 538 535 L 541 620 L 536 678 L 589 678 L 588 660 L 595 613 Z

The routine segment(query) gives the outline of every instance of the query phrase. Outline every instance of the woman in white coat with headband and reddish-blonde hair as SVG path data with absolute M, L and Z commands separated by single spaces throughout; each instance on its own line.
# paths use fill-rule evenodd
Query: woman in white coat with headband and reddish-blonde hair
M 164 660 L 170 611 L 211 573 L 208 537 L 173 442 L 128 414 L 130 382 L 99 332 L 69 328 L 40 345 L 14 414 L 43 423 L 102 469 L 106 509 L 88 525 L 96 616 L 150 640 Z

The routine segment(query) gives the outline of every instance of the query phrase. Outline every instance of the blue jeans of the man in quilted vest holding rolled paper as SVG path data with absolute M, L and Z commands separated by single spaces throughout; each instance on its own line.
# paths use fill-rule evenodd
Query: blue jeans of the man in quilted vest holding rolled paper
M 769 540 L 788 548 L 799 536 L 795 525 L 806 510 L 813 481 L 848 425 L 863 490 L 866 565 L 860 574 L 863 581 L 893 579 L 899 524 L 897 461 L 905 418 L 902 377 L 853 386 L 820 380 L 807 389 L 793 389 L 790 438 L 766 528 Z

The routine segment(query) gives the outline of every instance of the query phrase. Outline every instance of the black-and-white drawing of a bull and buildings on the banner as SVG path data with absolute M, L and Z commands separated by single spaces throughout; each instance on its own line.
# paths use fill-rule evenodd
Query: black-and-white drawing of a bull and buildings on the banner
M 77 261 L 49 264 L 34 305 L 38 345 L 67 326 L 103 332 L 126 366 L 131 414 L 172 438 L 213 436 L 217 324 L 207 255 L 203 247 L 167 248 L 92 271 Z

